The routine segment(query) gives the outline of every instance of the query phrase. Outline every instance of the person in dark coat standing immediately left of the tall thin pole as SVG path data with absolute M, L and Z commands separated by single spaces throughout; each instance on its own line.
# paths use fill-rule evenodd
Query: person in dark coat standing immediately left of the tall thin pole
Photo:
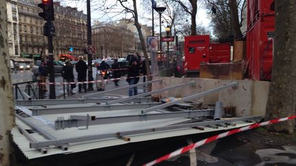
M 77 72 L 77 81 L 78 82 L 85 82 L 86 81 L 86 72 L 88 69 L 88 66 L 86 65 L 86 62 L 83 60 L 83 57 L 79 57 L 79 61 L 75 65 L 76 72 Z M 82 92 L 82 85 L 84 88 L 84 92 L 86 92 L 86 83 L 79 83 L 78 84 L 78 92 Z

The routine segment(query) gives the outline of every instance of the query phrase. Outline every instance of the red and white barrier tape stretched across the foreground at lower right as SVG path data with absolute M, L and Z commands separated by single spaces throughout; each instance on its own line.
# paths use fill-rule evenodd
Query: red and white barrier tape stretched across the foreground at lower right
M 293 116 L 290 116 L 290 117 L 283 117 L 283 118 L 280 118 L 280 119 L 275 119 L 275 120 L 269 120 L 267 122 L 262 122 L 262 123 L 256 123 L 256 124 L 251 124 L 249 126 L 245 126 L 245 127 L 241 127 L 241 128 L 236 128 L 236 129 L 233 129 L 233 130 L 230 130 L 230 131 L 227 131 L 225 133 L 221 133 L 219 135 L 214 135 L 212 137 L 208 137 L 207 139 L 203 139 L 201 141 L 198 141 L 196 143 L 193 143 L 193 144 L 190 144 L 188 146 L 185 146 L 184 148 L 181 148 L 179 150 L 175 150 L 174 152 L 171 152 L 165 156 L 162 156 L 154 161 L 151 161 L 143 166 L 150 166 L 150 165 L 155 165 L 157 163 L 160 163 L 162 161 L 165 161 L 169 158 L 173 158 L 174 156 L 177 156 L 177 155 L 180 155 L 180 154 L 183 154 L 185 152 L 188 152 L 189 150 L 193 149 L 193 148 L 197 148 L 199 146 L 204 146 L 205 144 L 207 143 L 210 143 L 212 141 L 216 141 L 217 139 L 221 139 L 223 137 L 227 137 L 227 136 L 230 136 L 230 135 L 233 135 L 233 134 L 236 134 L 236 133 L 240 133 L 242 131 L 245 131 L 245 130 L 251 130 L 253 128 L 258 128 L 260 126 L 265 126 L 265 125 L 268 125 L 268 124 L 275 124 L 277 122 L 283 122 L 283 121 L 286 121 L 286 120 L 292 120 L 292 119 L 295 119 L 296 118 L 296 115 L 293 115 Z

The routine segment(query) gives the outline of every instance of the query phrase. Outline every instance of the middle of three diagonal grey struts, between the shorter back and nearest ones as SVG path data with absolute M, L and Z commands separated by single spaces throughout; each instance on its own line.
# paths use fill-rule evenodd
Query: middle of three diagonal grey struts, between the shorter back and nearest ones
M 151 95 L 151 94 L 158 94 L 160 92 L 164 92 L 164 91 L 167 91 L 167 90 L 170 90 L 170 89 L 175 89 L 177 87 L 184 87 L 184 86 L 193 85 L 193 84 L 195 84 L 195 81 L 191 81 L 191 82 L 188 82 L 188 83 L 182 83 L 180 85 L 175 85 L 175 86 L 171 86 L 171 87 L 166 87 L 166 88 L 163 88 L 163 89 L 158 89 L 158 90 L 155 90 L 155 91 L 152 91 L 152 92 L 147 92 L 147 93 L 144 93 L 144 94 L 138 94 L 138 95 L 135 95 L 135 96 L 130 96 L 130 97 L 127 97 L 127 98 L 112 100 L 110 102 L 107 102 L 106 105 L 112 105 L 114 103 L 125 102 L 127 100 L 132 100 L 134 98 L 148 96 L 148 95 Z

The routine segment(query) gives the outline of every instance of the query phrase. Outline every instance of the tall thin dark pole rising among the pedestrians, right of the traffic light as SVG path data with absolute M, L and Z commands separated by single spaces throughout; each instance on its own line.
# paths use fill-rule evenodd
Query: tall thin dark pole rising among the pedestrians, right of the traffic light
M 88 45 L 91 45 L 91 23 L 90 23 L 90 0 L 86 0 L 87 3 L 87 40 Z M 88 53 L 88 81 L 93 81 L 93 66 L 92 66 L 92 54 Z M 88 90 L 93 90 L 93 83 L 88 83 Z

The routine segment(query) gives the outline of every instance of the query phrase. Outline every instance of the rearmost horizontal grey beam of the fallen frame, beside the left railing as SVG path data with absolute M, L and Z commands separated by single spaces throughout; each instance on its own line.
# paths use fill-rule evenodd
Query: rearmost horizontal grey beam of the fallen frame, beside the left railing
M 15 100 L 15 105 L 34 106 L 34 105 L 75 105 L 88 103 L 106 103 L 119 97 L 112 98 L 71 98 L 71 99 L 44 99 L 44 100 Z M 134 102 L 151 102 L 151 98 L 134 98 Z

